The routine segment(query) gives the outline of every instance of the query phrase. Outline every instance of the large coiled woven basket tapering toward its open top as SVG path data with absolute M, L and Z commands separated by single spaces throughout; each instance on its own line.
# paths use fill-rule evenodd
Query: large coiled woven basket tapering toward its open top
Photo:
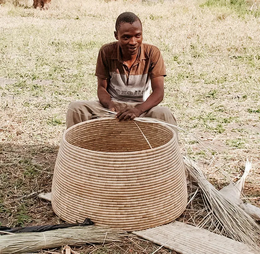
M 52 207 L 67 222 L 89 217 L 127 231 L 176 219 L 187 204 L 175 132 L 161 124 L 100 118 L 65 131 L 54 170 Z

